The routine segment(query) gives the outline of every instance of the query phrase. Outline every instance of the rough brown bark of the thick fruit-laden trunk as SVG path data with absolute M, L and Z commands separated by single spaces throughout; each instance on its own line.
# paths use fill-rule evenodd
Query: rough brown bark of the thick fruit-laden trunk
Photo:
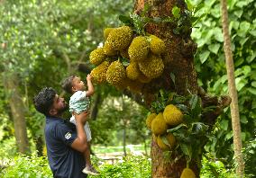
M 184 0 L 137 0 L 134 4 L 134 12 L 140 14 L 145 4 L 149 4 L 151 8 L 147 12 L 148 17 L 164 17 L 172 16 L 171 9 L 177 5 L 184 14 L 187 8 Z M 187 25 L 187 24 L 186 24 Z M 165 64 L 164 74 L 153 80 L 147 89 L 147 94 L 144 95 L 144 100 L 147 104 L 151 104 L 154 100 L 153 92 L 158 91 L 160 88 L 175 91 L 180 95 L 187 95 L 188 90 L 190 93 L 198 94 L 203 102 L 203 107 L 207 105 L 215 105 L 216 111 L 208 112 L 203 117 L 207 124 L 213 125 L 215 119 L 223 110 L 223 108 L 230 103 L 228 97 L 209 97 L 205 91 L 200 89 L 197 85 L 197 73 L 194 67 L 194 54 L 197 49 L 197 44 L 191 40 L 191 28 L 187 31 L 182 31 L 182 34 L 174 34 L 173 30 L 175 25 L 172 23 L 149 23 L 146 25 L 145 30 L 151 34 L 155 34 L 164 40 L 167 46 L 167 54 L 162 58 Z M 175 87 L 172 84 L 170 73 L 176 77 Z M 199 149 L 199 148 L 198 148 Z M 172 156 L 174 160 L 177 156 Z M 152 162 L 152 177 L 180 177 L 182 171 L 187 166 L 185 158 L 180 158 L 176 163 L 171 164 L 165 159 L 163 152 L 158 147 L 157 143 L 152 139 L 151 142 L 151 162 Z M 190 168 L 199 177 L 200 163 L 196 164 L 196 160 L 192 158 Z

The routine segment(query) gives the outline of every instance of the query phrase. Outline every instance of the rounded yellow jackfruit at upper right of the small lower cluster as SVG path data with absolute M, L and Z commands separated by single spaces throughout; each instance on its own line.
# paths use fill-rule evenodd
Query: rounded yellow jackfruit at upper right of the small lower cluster
M 183 114 L 175 105 L 169 104 L 163 111 L 163 118 L 170 126 L 176 126 L 183 121 Z

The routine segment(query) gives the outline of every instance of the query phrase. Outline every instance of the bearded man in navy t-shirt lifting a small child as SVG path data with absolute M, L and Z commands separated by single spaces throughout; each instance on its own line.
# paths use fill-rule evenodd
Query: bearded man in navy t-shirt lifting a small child
M 74 113 L 77 127 L 61 115 L 69 106 L 64 98 L 52 88 L 43 88 L 34 99 L 34 106 L 46 116 L 45 140 L 47 156 L 53 177 L 85 178 L 82 170 L 86 161 L 82 153 L 87 149 L 87 137 L 84 125 L 87 122 L 87 112 L 79 115 Z

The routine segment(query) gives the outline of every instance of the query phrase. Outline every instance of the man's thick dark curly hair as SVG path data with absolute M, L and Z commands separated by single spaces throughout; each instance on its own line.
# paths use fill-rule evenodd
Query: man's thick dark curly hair
M 56 91 L 51 87 L 45 87 L 33 98 L 33 104 L 37 111 L 45 116 L 50 116 L 50 108 L 53 105 Z

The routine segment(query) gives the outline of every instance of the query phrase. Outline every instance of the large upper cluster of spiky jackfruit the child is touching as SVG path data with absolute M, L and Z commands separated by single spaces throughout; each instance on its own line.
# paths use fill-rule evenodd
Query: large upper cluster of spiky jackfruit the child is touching
M 158 78 L 164 70 L 161 58 L 166 51 L 163 40 L 154 36 L 136 36 L 129 26 L 106 28 L 105 44 L 90 53 L 97 84 L 108 82 L 118 89 L 142 93 L 143 85 Z M 120 58 L 124 58 L 125 65 Z

